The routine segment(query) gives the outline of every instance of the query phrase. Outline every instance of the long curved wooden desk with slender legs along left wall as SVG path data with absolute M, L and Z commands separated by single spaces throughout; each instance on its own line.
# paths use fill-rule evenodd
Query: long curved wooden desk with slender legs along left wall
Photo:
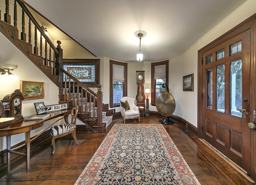
M 7 163 L 10 163 L 10 152 L 20 155 L 26 155 L 26 163 L 27 163 L 27 170 L 30 168 L 30 142 L 38 138 L 42 133 L 44 133 L 48 128 L 50 128 L 53 124 L 55 124 L 57 121 L 64 118 L 65 122 L 68 123 L 68 115 L 71 113 L 71 110 L 61 110 L 61 111 L 55 111 L 55 112 L 49 112 L 49 117 L 43 119 L 43 120 L 32 120 L 32 121 L 21 121 L 14 123 L 10 126 L 0 128 L 0 137 L 6 136 L 6 148 L 7 148 Z M 64 116 L 53 123 L 51 123 L 46 129 L 44 129 L 40 134 L 35 136 L 30 140 L 30 130 L 34 130 L 36 128 L 40 128 L 44 125 L 45 121 L 51 120 L 53 118 L 58 118 L 60 116 Z M 14 134 L 20 134 L 25 133 L 25 144 L 22 144 L 16 148 L 11 149 L 11 136 Z M 26 146 L 26 153 L 21 153 L 15 151 L 16 149 Z

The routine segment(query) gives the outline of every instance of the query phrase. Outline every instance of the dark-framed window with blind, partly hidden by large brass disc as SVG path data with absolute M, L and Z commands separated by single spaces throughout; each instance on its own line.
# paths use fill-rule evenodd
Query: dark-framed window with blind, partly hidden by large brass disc
M 151 63 L 151 104 L 156 106 L 156 96 L 165 91 L 165 88 L 162 87 L 163 83 L 168 85 L 169 79 L 169 61 Z

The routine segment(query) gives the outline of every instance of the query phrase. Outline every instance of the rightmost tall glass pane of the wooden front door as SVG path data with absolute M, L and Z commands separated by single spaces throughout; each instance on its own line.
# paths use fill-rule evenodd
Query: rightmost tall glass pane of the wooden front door
M 231 115 L 242 117 L 242 60 L 230 63 L 230 94 Z

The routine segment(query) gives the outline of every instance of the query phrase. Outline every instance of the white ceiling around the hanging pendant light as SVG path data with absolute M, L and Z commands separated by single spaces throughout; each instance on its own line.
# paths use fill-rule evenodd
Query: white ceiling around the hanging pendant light
M 25 0 L 98 57 L 145 61 L 180 55 L 246 0 Z M 50 28 L 47 28 L 50 33 Z M 50 33 L 51 34 L 51 33 Z M 57 35 L 53 36 L 58 38 Z M 56 38 L 55 38 L 56 37 Z

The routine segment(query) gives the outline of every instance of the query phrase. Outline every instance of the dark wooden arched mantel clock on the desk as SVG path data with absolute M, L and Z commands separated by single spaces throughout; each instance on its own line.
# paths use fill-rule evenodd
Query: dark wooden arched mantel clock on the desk
M 20 89 L 16 89 L 12 94 L 6 95 L 2 100 L 5 109 L 3 117 L 14 118 L 15 122 L 23 121 L 22 100 L 24 100 L 24 96 Z

